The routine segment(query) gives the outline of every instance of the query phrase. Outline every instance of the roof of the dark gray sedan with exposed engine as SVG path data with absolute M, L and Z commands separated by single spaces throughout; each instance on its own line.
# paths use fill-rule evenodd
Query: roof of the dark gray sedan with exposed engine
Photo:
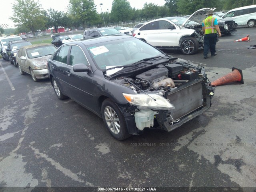
M 67 45 L 67 44 L 84 44 L 85 46 L 87 46 L 87 45 L 91 45 L 91 44 L 96 44 L 96 43 L 101 43 L 101 42 L 106 42 L 106 41 L 112 41 L 112 40 L 119 40 L 119 39 L 124 39 L 124 38 L 135 38 L 135 37 L 129 36 L 129 35 L 99 36 L 99 37 L 90 38 L 90 39 L 81 39 L 81 40 L 76 40 L 76 41 L 72 41 L 72 42 L 67 42 L 67 43 L 65 43 L 65 45 Z

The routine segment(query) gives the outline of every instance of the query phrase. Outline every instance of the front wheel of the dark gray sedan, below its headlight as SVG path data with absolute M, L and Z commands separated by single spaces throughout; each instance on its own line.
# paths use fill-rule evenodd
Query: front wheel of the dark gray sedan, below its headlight
M 131 135 L 128 133 L 124 114 L 118 106 L 110 99 L 103 101 L 101 106 L 101 114 L 105 126 L 110 134 L 117 140 L 124 140 Z

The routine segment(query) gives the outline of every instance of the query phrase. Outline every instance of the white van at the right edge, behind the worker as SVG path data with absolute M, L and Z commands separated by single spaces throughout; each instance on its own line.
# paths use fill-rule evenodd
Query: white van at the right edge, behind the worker
M 256 24 L 256 5 L 239 7 L 228 11 L 222 18 L 232 17 L 238 25 L 254 27 Z

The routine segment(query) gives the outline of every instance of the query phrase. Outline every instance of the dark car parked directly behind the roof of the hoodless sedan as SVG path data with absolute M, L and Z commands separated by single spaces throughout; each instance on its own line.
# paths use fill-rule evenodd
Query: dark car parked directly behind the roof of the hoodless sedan
M 122 33 L 112 27 L 102 27 L 102 28 L 85 30 L 83 38 L 90 39 L 94 37 L 108 36 L 108 35 L 122 35 Z

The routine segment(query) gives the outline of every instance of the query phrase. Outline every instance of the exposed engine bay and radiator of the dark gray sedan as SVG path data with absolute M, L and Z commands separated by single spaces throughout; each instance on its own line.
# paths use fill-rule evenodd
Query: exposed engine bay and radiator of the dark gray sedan
M 138 130 L 146 127 L 174 130 L 210 108 L 214 95 L 204 67 L 177 58 L 147 70 L 142 68 L 126 77 L 112 78 L 111 81 L 131 88 L 134 95 L 148 96 L 145 103 L 150 103 L 151 99 L 154 102 L 153 95 L 156 94 L 173 105 L 170 109 L 136 104 L 122 107 L 124 112 L 135 118 Z

